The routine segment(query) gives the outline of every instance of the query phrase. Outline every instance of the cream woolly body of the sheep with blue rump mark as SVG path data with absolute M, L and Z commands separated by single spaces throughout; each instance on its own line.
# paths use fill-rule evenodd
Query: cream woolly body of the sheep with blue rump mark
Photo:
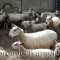
M 29 34 L 25 33 L 24 40 L 24 46 L 26 48 L 49 48 L 53 45 L 53 40 L 57 40 L 57 33 L 53 30 L 44 30 Z

